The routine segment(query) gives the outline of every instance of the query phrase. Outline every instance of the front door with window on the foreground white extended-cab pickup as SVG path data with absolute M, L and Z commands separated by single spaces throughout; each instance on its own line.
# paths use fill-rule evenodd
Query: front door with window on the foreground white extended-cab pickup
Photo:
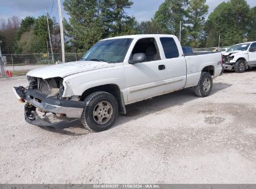
M 128 103 L 163 94 L 166 86 L 166 69 L 156 39 L 153 37 L 139 39 L 131 52 L 130 59 L 135 53 L 145 53 L 146 61 L 124 66 Z

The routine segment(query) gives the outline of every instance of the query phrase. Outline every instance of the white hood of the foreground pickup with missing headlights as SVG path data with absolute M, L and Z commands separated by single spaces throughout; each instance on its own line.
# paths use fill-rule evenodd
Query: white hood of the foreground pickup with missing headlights
M 115 67 L 115 64 L 107 62 L 77 61 L 60 63 L 58 65 L 52 65 L 44 68 L 37 68 L 36 70 L 29 71 L 27 76 L 43 79 L 55 77 L 64 78 L 65 76 L 81 73 L 83 71 L 99 70 L 110 67 Z

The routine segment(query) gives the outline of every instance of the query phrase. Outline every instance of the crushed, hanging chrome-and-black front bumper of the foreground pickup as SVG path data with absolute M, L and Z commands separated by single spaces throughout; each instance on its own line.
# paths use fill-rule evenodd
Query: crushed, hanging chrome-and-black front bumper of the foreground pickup
M 82 116 L 85 103 L 82 101 L 71 101 L 67 99 L 57 99 L 49 97 L 47 94 L 36 90 L 26 90 L 24 87 L 14 87 L 14 94 L 19 101 L 25 104 L 25 120 L 29 124 L 42 127 L 70 127 L 73 124 L 78 124 Z M 45 113 L 54 113 L 65 115 L 66 118 L 71 118 L 69 122 L 60 121 L 57 123 L 49 123 L 44 121 L 36 113 L 36 108 Z

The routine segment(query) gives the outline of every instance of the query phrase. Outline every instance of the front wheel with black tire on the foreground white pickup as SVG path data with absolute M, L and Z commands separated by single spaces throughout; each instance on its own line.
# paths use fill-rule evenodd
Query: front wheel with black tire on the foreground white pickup
M 86 129 L 100 132 L 113 126 L 118 116 L 118 103 L 112 94 L 97 91 L 89 94 L 84 101 L 81 120 Z

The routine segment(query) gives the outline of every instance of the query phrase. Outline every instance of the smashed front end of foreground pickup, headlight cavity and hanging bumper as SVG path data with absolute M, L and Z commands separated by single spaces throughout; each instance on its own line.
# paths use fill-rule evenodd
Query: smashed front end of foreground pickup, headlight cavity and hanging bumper
M 25 104 L 25 120 L 41 127 L 65 128 L 80 123 L 85 103 L 78 98 L 62 98 L 64 93 L 62 78 L 35 78 L 27 76 L 29 86 L 14 87 L 14 94 Z M 42 116 L 40 116 L 42 114 Z M 59 122 L 50 122 L 48 117 L 55 116 Z

